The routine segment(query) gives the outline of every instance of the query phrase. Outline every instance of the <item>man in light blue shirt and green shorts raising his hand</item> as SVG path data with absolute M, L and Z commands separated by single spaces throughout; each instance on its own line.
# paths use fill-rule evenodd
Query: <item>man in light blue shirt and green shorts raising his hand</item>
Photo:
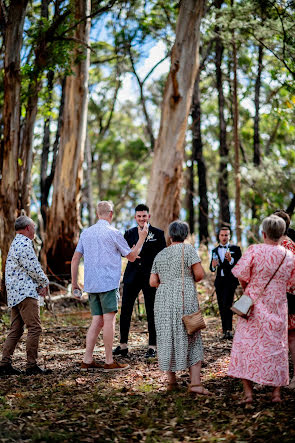
M 113 203 L 101 201 L 97 205 L 98 222 L 82 232 L 72 258 L 72 288 L 79 289 L 78 266 L 84 256 L 84 290 L 88 292 L 92 322 L 86 336 L 86 352 L 81 369 L 116 371 L 129 365 L 113 360 L 112 346 L 116 312 L 118 311 L 121 257 L 135 261 L 148 234 L 147 223 L 138 229 L 138 241 L 131 249 L 120 231 L 111 226 Z M 93 360 L 93 350 L 100 331 L 103 331 L 105 363 Z

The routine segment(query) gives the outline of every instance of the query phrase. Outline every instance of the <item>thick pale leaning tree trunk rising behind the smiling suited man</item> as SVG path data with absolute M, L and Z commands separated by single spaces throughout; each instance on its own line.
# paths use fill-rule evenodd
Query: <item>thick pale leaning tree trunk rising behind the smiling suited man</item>
M 200 22 L 204 3 L 204 0 L 181 2 L 171 52 L 171 68 L 164 91 L 147 198 L 152 223 L 162 229 L 178 218 L 180 212 L 184 140 L 199 66 Z

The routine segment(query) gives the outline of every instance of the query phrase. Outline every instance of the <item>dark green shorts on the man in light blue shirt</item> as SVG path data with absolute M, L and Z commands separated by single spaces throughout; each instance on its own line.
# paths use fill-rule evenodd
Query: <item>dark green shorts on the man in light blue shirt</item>
M 92 315 L 103 315 L 109 312 L 118 312 L 120 298 L 119 289 L 107 292 L 88 293 L 90 311 Z

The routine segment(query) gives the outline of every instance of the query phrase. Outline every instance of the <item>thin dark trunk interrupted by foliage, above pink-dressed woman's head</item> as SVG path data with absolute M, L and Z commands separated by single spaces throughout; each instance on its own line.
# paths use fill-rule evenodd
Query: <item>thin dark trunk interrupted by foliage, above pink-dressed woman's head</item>
M 259 167 L 261 163 L 261 152 L 260 152 L 260 90 L 261 90 L 261 74 L 262 74 L 262 60 L 263 60 L 263 46 L 258 47 L 258 68 L 257 77 L 255 82 L 255 117 L 254 117 L 254 137 L 253 137 L 253 164 Z M 254 196 L 255 199 L 255 196 Z M 252 202 L 252 232 L 255 237 L 259 236 L 259 224 L 257 222 L 257 204 L 255 200 Z

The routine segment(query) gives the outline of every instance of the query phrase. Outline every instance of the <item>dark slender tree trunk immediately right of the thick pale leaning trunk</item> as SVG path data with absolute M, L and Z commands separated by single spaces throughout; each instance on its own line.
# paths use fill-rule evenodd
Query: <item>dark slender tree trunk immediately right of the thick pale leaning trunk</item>
M 200 101 L 200 73 L 198 72 L 192 102 L 192 132 L 193 132 L 193 160 L 198 165 L 199 180 L 199 241 L 208 244 L 208 196 L 207 196 L 207 169 L 203 157 L 203 143 L 201 133 L 201 101 Z

